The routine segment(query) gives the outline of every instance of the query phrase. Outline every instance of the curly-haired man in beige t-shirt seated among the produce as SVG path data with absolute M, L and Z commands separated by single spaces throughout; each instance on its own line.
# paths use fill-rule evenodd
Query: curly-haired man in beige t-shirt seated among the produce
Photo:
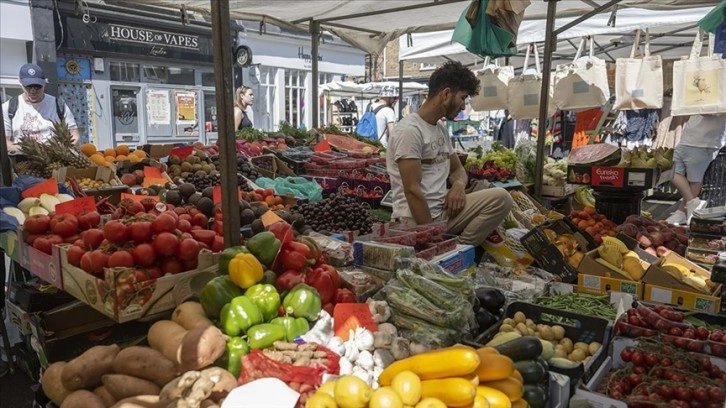
M 509 214 L 512 198 L 501 188 L 464 192 L 466 171 L 440 119 L 453 120 L 478 88 L 476 76 L 461 63 L 438 68 L 429 79 L 428 99 L 396 124 L 386 152 L 393 218 L 415 224 L 448 220 L 449 233 L 477 248 Z

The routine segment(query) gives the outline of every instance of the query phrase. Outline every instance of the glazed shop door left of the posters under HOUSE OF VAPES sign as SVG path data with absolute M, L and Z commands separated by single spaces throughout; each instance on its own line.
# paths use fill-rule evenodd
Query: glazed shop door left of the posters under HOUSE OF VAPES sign
M 111 87 L 113 108 L 113 144 L 139 144 L 140 88 Z

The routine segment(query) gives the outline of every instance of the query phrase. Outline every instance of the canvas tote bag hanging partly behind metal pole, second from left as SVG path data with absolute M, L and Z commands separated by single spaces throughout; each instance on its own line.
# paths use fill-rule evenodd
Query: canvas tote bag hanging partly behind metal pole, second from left
M 524 74 L 529 65 L 530 49 L 534 48 L 534 60 L 536 73 Z M 539 52 L 537 46 L 527 47 L 527 53 L 524 56 L 524 65 L 522 67 L 522 75 L 515 76 L 509 81 L 507 87 L 509 114 L 513 119 L 534 119 L 539 118 L 539 97 L 542 91 L 542 71 L 539 66 Z M 548 92 L 548 115 L 555 113 L 555 106 L 552 103 L 552 81 L 550 81 L 550 89 Z

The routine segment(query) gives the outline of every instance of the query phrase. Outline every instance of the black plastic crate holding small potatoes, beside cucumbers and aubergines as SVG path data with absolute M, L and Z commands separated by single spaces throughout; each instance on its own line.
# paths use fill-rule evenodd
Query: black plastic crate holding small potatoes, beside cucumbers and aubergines
M 600 349 L 587 364 L 579 364 L 577 367 L 569 369 L 549 366 L 550 371 L 570 377 L 572 392 L 574 392 L 575 385 L 580 379 L 588 382 L 598 367 L 603 363 L 605 357 L 607 357 L 607 345 L 608 341 L 610 341 L 610 327 L 607 320 L 525 302 L 510 303 L 499 323 L 479 335 L 475 343 L 484 345 L 489 342 L 499 332 L 499 326 L 502 325 L 504 319 L 514 317 L 514 314 L 517 312 L 524 313 L 535 324 L 562 326 L 565 329 L 565 337 L 572 340 L 573 343 L 583 342 L 590 344 L 596 341 L 601 344 Z

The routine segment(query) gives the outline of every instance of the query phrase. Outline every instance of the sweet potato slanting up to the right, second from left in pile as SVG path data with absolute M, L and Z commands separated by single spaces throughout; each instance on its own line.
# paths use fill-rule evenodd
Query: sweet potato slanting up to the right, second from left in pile
M 119 352 L 116 344 L 94 346 L 69 361 L 61 373 L 67 390 L 93 389 L 101 385 L 101 376 L 113 371 L 113 360 Z

